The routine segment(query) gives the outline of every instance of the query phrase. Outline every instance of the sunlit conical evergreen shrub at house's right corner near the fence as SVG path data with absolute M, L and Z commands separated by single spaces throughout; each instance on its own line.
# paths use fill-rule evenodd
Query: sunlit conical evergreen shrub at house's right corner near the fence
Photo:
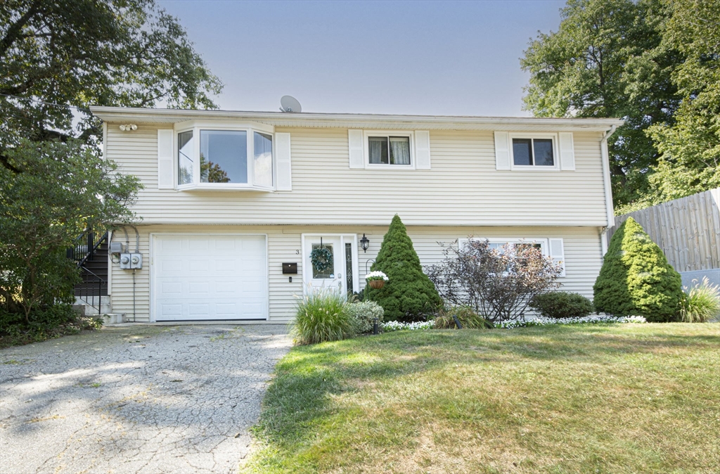
M 628 218 L 613 234 L 593 286 L 595 309 L 647 321 L 675 321 L 682 280 L 642 225 Z

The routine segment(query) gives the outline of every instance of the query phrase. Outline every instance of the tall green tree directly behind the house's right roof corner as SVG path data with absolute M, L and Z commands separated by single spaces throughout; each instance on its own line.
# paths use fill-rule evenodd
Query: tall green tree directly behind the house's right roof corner
M 672 71 L 681 55 L 662 42 L 660 0 L 569 0 L 557 32 L 539 33 L 521 58 L 531 74 L 525 107 L 539 117 L 621 117 L 608 143 L 616 206 L 647 192 L 660 153 L 647 135 L 674 123 Z

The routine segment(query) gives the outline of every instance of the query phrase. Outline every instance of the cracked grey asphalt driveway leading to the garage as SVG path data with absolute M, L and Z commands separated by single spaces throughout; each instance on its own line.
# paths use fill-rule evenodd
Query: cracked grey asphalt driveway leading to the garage
M 109 327 L 0 351 L 0 472 L 235 473 L 285 326 Z

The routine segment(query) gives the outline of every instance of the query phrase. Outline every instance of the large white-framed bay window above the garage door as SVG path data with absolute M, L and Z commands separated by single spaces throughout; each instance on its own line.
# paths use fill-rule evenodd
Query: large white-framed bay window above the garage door
M 252 128 L 177 133 L 180 189 L 272 189 L 273 135 Z

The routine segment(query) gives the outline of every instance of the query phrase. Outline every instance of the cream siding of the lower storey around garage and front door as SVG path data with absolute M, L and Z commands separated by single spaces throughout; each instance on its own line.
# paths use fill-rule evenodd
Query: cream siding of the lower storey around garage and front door
M 358 246 L 358 274 L 360 290 L 364 287 L 366 268 L 377 256 L 387 226 L 339 225 L 138 225 L 143 269 L 135 273 L 133 297 L 132 271 L 121 270 L 111 264 L 109 293 L 113 313 L 125 315 L 125 321 L 150 321 L 150 235 L 154 233 L 188 234 L 265 234 L 268 241 L 269 262 L 269 323 L 287 323 L 294 317 L 297 299 L 302 295 L 302 234 L 354 234 L 358 240 L 363 233 L 370 240 L 367 252 Z M 130 249 L 135 251 L 135 231 L 127 228 Z M 468 236 L 487 238 L 562 238 L 564 243 L 566 276 L 560 278 L 562 290 L 593 297 L 593 284 L 602 265 L 600 228 L 596 227 L 440 227 L 408 226 L 423 265 L 435 264 L 443 258 L 438 242 L 452 243 Z M 113 240 L 125 244 L 125 234 L 114 231 Z M 297 263 L 297 275 L 282 273 L 284 262 Z M 292 283 L 288 277 L 292 276 Z M 133 300 L 135 308 L 133 309 Z M 256 321 L 253 321 L 256 323 Z

